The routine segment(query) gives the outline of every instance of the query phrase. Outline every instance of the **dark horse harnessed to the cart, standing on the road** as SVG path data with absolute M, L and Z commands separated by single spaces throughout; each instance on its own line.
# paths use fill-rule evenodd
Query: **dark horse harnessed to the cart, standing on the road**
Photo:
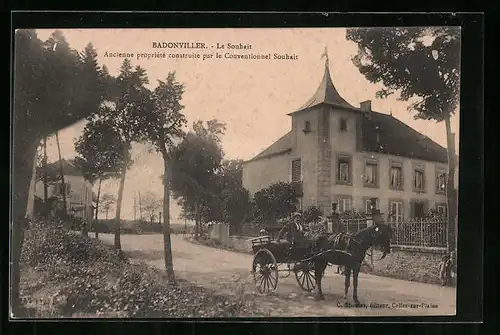
M 328 264 L 335 264 L 344 267 L 345 289 L 344 299 L 347 299 L 351 282 L 351 272 L 353 274 L 353 300 L 359 305 L 358 300 L 358 276 L 361 264 L 365 258 L 366 251 L 372 246 L 382 249 L 381 260 L 391 252 L 392 229 L 384 223 L 375 223 L 353 235 L 346 233 L 322 235 L 313 241 L 313 252 L 317 254 L 313 258 L 314 274 L 316 281 L 316 299 L 324 300 L 321 289 L 321 280 Z M 328 250 L 340 250 L 344 253 L 340 255 L 351 255 L 339 257 L 339 253 L 328 252 Z

